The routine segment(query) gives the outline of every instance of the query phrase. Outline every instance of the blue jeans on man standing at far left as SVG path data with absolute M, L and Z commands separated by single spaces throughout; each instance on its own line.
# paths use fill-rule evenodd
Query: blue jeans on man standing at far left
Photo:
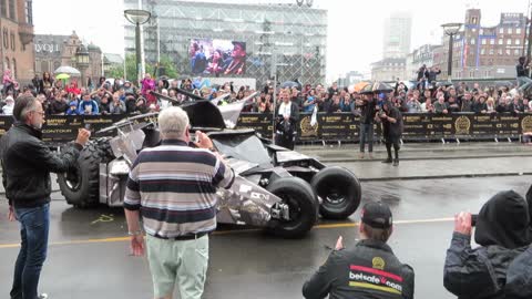
M 21 247 L 14 264 L 12 299 L 37 299 L 42 265 L 47 259 L 50 204 L 14 208 L 20 223 Z

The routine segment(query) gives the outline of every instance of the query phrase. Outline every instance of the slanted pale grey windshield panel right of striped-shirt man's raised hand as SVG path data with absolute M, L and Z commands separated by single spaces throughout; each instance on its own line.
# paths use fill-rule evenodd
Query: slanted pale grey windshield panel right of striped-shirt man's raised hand
M 268 151 L 255 134 L 211 136 L 219 153 L 259 165 L 270 164 Z

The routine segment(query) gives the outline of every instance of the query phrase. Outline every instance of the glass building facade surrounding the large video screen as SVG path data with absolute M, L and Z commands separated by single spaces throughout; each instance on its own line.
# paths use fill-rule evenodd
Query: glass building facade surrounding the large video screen
M 297 79 L 305 84 L 325 83 L 326 10 L 306 3 L 298 6 L 296 0 L 272 3 L 124 0 L 124 9 L 139 9 L 140 2 L 153 16 L 143 25 L 147 62 L 157 60 L 157 35 L 161 55 L 170 56 L 180 74 L 192 73 L 192 39 L 241 41 L 246 43 L 246 71 L 234 76 L 254 78 L 257 84 L 274 75 L 279 82 Z M 135 29 L 127 22 L 125 52 L 135 53 Z

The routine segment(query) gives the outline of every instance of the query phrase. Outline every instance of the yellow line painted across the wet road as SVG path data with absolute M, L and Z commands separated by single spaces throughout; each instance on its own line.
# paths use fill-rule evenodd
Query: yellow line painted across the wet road
M 454 218 L 433 218 L 433 219 L 417 219 L 417 220 L 396 220 L 395 225 L 408 225 L 408 224 L 431 224 L 431 223 L 449 223 L 453 221 Z M 345 228 L 345 227 L 357 227 L 360 223 L 341 223 L 341 224 L 323 224 L 313 227 L 313 229 L 330 229 L 330 228 Z M 214 231 L 213 235 L 235 235 L 242 233 L 253 233 L 260 231 L 260 228 L 250 228 L 250 229 L 235 229 L 235 230 L 218 230 Z M 66 241 L 54 241 L 50 243 L 49 246 L 61 246 L 61 245 L 82 245 L 82 244 L 100 244 L 100 243 L 120 243 L 127 241 L 130 237 L 116 237 L 116 238 L 101 238 L 101 239 L 84 239 L 84 240 L 66 240 Z M 20 244 L 0 244 L 0 249 L 7 248 L 18 248 Z

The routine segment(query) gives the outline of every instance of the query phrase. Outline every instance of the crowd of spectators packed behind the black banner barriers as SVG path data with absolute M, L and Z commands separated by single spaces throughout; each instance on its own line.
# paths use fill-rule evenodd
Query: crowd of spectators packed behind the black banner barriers
M 427 71 L 429 72 L 429 71 Z M 436 72 L 431 70 L 431 72 Z M 433 75 L 432 75 L 433 76 Z M 150 74 L 141 81 L 140 86 L 123 79 L 100 78 L 95 86 L 79 86 L 72 79 L 69 83 L 54 80 L 52 74 L 44 72 L 35 76 L 32 84 L 22 89 L 4 89 L 1 113 L 12 113 L 16 97 L 19 93 L 32 93 L 43 103 L 48 115 L 96 115 L 96 114 L 135 114 L 156 112 L 172 105 L 171 101 L 160 100 L 151 92 L 161 93 L 175 100 L 175 103 L 191 101 L 191 97 L 177 92 L 182 89 L 204 99 L 216 99 L 223 94 L 231 96 L 218 102 L 225 105 L 248 97 L 255 92 L 249 86 L 235 87 L 233 82 L 223 85 L 206 86 L 201 78 L 186 80 L 152 79 Z M 436 86 L 422 83 L 407 86 L 397 82 L 393 91 L 387 94 L 376 94 L 378 101 L 390 100 L 402 113 L 449 114 L 457 112 L 471 113 L 525 113 L 532 110 L 532 102 L 513 86 L 488 86 L 481 89 L 479 83 L 468 86 L 461 82 L 457 85 Z M 273 83 L 266 84 L 259 93 L 249 99 L 243 112 L 273 113 L 275 92 Z M 335 82 L 326 87 L 323 84 L 300 85 L 284 89 L 299 112 L 337 113 L 347 112 L 359 115 L 357 104 L 362 95 L 349 87 L 340 87 Z

